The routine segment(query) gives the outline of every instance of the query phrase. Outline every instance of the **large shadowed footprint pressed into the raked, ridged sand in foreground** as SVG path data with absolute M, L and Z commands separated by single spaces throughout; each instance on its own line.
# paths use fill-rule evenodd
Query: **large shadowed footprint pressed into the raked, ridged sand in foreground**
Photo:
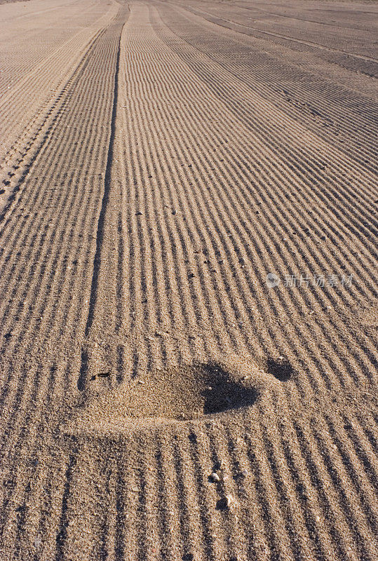
M 252 407 L 269 386 L 276 386 L 274 378 L 286 381 L 292 372 L 283 358 L 255 363 L 238 357 L 141 374 L 88 398 L 72 426 L 117 431 L 143 424 L 234 416 Z

